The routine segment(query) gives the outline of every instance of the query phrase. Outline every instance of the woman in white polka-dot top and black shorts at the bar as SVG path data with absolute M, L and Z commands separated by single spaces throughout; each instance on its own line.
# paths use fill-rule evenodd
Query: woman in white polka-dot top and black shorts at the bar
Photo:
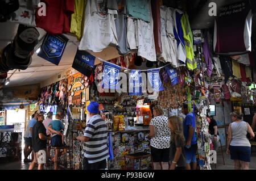
M 171 131 L 168 128 L 168 118 L 163 116 L 162 107 L 153 108 L 154 118 L 150 121 L 150 150 L 155 170 L 169 169 L 169 154 Z

